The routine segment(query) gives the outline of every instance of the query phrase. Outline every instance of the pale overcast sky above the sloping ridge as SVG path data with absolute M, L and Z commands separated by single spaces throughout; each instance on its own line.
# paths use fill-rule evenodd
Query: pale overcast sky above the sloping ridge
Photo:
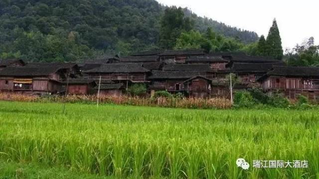
M 313 36 L 319 44 L 319 0 L 158 0 L 188 7 L 200 16 L 267 36 L 277 19 L 283 48 Z

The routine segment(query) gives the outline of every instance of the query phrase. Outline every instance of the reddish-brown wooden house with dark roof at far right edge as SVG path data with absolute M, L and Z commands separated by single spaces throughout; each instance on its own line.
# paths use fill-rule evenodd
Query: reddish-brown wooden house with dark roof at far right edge
M 258 81 L 268 94 L 281 92 L 296 99 L 302 94 L 309 99 L 319 99 L 319 68 L 274 66 Z

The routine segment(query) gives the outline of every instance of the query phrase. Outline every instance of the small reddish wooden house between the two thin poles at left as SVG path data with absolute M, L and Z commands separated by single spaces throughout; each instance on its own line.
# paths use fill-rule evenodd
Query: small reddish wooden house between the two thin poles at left
M 68 94 L 88 95 L 94 93 L 94 87 L 97 86 L 93 79 L 74 78 L 63 82 L 64 88 L 67 87 Z

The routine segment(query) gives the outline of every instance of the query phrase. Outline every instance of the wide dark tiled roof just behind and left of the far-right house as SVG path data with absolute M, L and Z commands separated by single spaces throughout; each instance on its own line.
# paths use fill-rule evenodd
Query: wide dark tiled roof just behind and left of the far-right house
M 231 71 L 234 73 L 267 73 L 273 66 L 285 66 L 284 62 L 278 63 L 232 63 Z

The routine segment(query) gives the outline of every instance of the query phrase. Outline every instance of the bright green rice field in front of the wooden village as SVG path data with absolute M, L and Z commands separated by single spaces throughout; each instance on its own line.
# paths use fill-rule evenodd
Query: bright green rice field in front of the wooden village
M 71 171 L 70 178 L 76 175 L 72 171 L 79 171 L 132 179 L 319 179 L 316 109 L 67 104 L 66 113 L 61 111 L 61 104 L 0 102 L 0 159 L 41 166 L 40 171 L 62 170 L 65 176 Z M 235 164 L 237 158 L 251 166 L 253 160 L 310 164 L 306 169 L 243 171 Z

